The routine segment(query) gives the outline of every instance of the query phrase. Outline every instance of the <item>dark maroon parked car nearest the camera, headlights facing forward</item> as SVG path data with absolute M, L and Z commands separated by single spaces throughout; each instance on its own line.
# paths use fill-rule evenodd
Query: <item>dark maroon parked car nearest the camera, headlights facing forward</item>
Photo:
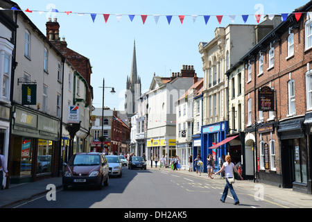
M 95 185 L 102 189 L 103 185 L 108 185 L 108 163 L 102 153 L 76 153 L 64 165 L 64 190 L 69 186 Z

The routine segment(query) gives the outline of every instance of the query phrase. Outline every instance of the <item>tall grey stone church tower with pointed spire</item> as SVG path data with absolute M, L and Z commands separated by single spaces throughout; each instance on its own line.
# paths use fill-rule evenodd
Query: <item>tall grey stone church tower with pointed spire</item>
M 135 50 L 135 42 L 132 55 L 131 76 L 127 76 L 125 84 L 125 111 L 130 117 L 137 112 L 137 102 L 141 96 L 141 78 L 137 75 L 137 53 Z

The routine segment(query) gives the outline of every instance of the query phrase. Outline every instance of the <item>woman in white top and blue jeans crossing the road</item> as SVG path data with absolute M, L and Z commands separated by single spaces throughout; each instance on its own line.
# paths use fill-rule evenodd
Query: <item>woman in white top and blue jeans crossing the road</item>
M 239 171 L 236 169 L 235 165 L 231 162 L 231 156 L 230 155 L 225 156 L 225 162 L 224 162 L 222 168 L 218 172 L 216 172 L 215 175 L 222 172 L 222 171 L 225 171 L 225 180 L 227 183 L 224 187 L 223 194 L 220 198 L 220 201 L 224 203 L 225 198 L 227 198 L 227 192 L 231 191 L 231 194 L 234 198 L 234 205 L 237 205 L 237 204 L 239 204 L 239 198 L 236 196 L 233 185 L 232 185 L 232 183 L 229 183 L 229 180 L 234 179 L 234 171 L 238 174 L 239 174 Z M 239 174 L 239 177 L 241 178 L 241 180 L 243 180 L 243 178 L 241 177 L 240 174 Z

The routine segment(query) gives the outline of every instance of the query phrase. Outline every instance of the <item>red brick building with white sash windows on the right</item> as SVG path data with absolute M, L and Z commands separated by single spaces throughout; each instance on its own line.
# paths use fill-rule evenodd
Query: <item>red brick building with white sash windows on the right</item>
M 254 147 L 254 176 L 310 194 L 311 6 L 297 8 L 242 58 L 245 144 Z M 271 97 L 261 98 L 265 90 Z M 261 110 L 269 104 L 271 111 Z

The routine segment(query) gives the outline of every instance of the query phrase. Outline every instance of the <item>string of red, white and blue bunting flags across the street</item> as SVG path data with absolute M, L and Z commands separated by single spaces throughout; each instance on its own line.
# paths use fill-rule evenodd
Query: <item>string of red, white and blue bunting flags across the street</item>
M 107 23 L 107 20 L 110 17 L 110 15 L 115 15 L 118 22 L 120 22 L 121 17 L 123 15 L 128 15 L 131 22 L 135 19 L 135 16 L 137 16 L 136 14 L 113 14 L 113 13 L 107 14 L 107 13 L 72 12 L 72 11 L 62 12 L 56 8 L 52 8 L 51 10 L 30 10 L 29 8 L 27 8 L 26 10 L 21 10 L 21 9 L 16 8 L 16 7 L 12 7 L 12 8 L 0 8 L 0 10 L 18 10 L 18 11 L 23 11 L 23 12 L 28 12 L 28 13 L 38 12 L 40 15 L 44 12 L 66 13 L 67 15 L 76 14 L 79 16 L 91 15 L 92 22 L 95 22 L 97 15 L 103 15 L 105 23 Z M 299 21 L 299 19 L 302 17 L 302 14 L 304 14 L 304 13 L 307 13 L 309 17 L 311 15 L 311 12 L 290 12 L 290 13 L 275 13 L 275 14 L 263 14 L 263 15 L 259 14 L 259 15 L 254 15 L 254 19 L 259 24 L 261 17 L 263 17 L 263 16 L 267 15 L 268 19 L 272 20 L 275 17 L 275 15 L 279 15 L 279 16 L 281 16 L 281 20 L 283 22 L 285 22 L 286 19 L 288 18 L 288 16 L 295 15 L 295 19 L 297 21 Z M 143 24 L 146 23 L 147 17 L 154 17 L 156 24 L 158 23 L 159 17 L 166 17 L 169 25 L 171 24 L 171 20 L 173 17 L 178 17 L 180 19 L 181 24 L 183 24 L 185 17 L 191 17 L 193 19 L 193 23 L 196 22 L 196 19 L 198 17 L 203 17 L 205 24 L 207 25 L 209 18 L 211 16 L 215 16 L 216 19 L 218 20 L 218 23 L 221 24 L 223 17 L 225 17 L 225 16 L 229 17 L 231 22 L 234 23 L 234 20 L 235 20 L 237 15 L 139 15 L 139 16 L 141 16 L 141 20 L 142 20 Z M 241 15 L 241 17 L 243 19 L 243 22 L 246 23 L 248 18 L 250 17 L 250 15 L 245 14 L 245 15 Z

